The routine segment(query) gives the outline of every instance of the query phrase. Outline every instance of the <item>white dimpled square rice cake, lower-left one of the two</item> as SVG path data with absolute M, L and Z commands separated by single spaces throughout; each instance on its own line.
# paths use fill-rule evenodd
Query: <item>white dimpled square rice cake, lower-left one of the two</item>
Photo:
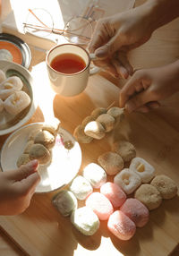
M 119 185 L 124 192 L 130 194 L 141 185 L 141 177 L 130 169 L 124 168 L 119 174 L 115 175 L 114 183 Z

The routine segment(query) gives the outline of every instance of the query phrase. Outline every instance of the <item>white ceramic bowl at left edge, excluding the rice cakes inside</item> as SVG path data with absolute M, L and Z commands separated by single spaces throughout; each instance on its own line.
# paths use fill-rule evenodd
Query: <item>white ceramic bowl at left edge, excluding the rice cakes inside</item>
M 19 115 L 10 115 L 5 110 L 0 112 L 0 136 L 8 134 L 26 124 L 36 110 L 36 101 L 33 93 L 33 79 L 30 72 L 20 64 L 8 61 L 0 61 L 0 69 L 4 71 L 6 77 L 16 75 L 21 78 L 23 88 L 31 98 L 30 106 L 25 108 Z

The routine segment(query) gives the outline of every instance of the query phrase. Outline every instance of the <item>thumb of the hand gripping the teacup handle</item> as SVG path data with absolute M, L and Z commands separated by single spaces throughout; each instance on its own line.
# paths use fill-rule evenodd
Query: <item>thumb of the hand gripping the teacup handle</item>
M 113 55 L 120 47 L 122 47 L 122 42 L 119 39 L 119 35 L 115 35 L 107 42 L 107 44 L 102 47 L 98 47 L 95 51 L 95 55 L 98 58 L 104 58 L 109 55 Z

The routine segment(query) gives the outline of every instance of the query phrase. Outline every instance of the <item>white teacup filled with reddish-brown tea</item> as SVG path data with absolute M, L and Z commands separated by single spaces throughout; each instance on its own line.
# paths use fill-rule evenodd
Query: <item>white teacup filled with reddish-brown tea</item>
M 55 60 L 57 62 L 58 58 L 60 59 L 63 57 L 65 61 L 65 55 L 72 55 L 74 58 L 77 55 L 77 60 L 79 60 L 78 57 L 80 57 L 81 64 L 83 64 L 81 69 L 79 68 L 79 70 L 74 72 L 65 70 L 64 72 L 65 63 L 62 62 L 61 64 L 59 63 L 60 65 L 56 68 L 54 65 Z M 98 67 L 90 69 L 91 59 L 92 55 L 90 55 L 83 47 L 77 45 L 64 44 L 51 48 L 47 53 L 46 64 L 52 89 L 65 97 L 72 97 L 80 94 L 85 90 L 90 74 L 98 73 L 99 70 Z M 68 64 L 66 64 L 66 66 L 68 69 Z

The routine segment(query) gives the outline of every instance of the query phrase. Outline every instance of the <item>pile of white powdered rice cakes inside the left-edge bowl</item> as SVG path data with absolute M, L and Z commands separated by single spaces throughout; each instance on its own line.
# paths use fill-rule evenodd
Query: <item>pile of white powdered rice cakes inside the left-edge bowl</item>
M 30 96 L 22 87 L 23 83 L 18 76 L 6 78 L 0 70 L 0 112 L 5 109 L 11 115 L 18 115 L 30 105 Z

